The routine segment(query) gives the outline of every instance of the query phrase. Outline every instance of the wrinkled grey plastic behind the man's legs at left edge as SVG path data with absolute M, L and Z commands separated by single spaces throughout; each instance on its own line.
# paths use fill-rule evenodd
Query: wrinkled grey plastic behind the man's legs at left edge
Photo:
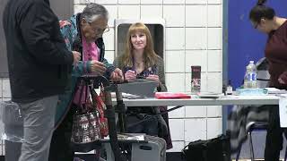
M 0 102 L 1 139 L 13 142 L 23 142 L 23 118 L 21 108 L 13 101 Z

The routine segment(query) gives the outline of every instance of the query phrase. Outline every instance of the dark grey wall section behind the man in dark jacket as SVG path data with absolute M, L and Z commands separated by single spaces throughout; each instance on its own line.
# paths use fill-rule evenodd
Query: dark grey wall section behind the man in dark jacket
M 7 56 L 3 30 L 3 11 L 8 0 L 0 0 L 0 78 L 8 78 Z M 51 8 L 60 20 L 68 19 L 74 13 L 74 1 L 50 0 Z

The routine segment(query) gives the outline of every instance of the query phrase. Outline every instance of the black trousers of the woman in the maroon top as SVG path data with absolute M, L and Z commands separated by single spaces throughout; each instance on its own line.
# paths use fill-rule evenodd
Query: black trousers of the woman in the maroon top
M 265 142 L 265 161 L 278 161 L 283 149 L 283 133 L 287 138 L 287 129 L 280 127 L 278 106 L 270 107 L 269 127 Z

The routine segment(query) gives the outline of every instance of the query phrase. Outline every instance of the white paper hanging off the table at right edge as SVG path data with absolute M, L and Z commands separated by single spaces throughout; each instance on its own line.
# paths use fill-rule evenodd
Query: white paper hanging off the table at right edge
M 282 128 L 287 127 L 287 94 L 283 94 L 279 99 L 279 117 L 280 126 Z

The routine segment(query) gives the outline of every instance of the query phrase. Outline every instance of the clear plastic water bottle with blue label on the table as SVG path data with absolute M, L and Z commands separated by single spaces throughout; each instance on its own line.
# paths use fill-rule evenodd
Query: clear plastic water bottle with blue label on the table
M 246 66 L 246 72 L 244 76 L 244 89 L 256 89 L 257 88 L 257 67 L 254 61 L 250 61 Z

